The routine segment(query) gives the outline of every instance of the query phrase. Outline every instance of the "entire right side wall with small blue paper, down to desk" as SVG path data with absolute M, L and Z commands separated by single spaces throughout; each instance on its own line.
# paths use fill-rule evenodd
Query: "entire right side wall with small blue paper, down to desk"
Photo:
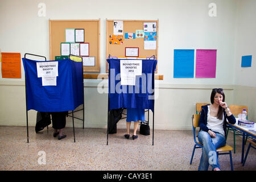
M 256 1 L 237 2 L 234 105 L 247 105 L 248 118 L 256 121 Z M 242 68 L 242 56 L 252 55 L 251 67 Z

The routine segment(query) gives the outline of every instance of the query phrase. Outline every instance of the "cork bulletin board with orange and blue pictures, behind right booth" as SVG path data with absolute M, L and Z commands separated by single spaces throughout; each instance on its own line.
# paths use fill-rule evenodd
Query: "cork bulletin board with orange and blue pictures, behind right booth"
M 158 20 L 122 20 L 123 21 L 123 42 L 122 44 L 110 44 L 110 35 L 114 34 L 115 20 L 106 20 L 106 59 L 112 57 L 126 57 L 126 48 L 138 48 L 138 59 L 155 56 L 158 60 Z M 143 23 L 156 22 L 156 49 L 144 49 L 144 38 L 125 39 L 125 33 L 135 33 L 136 30 L 143 30 Z M 135 35 L 135 34 L 134 34 Z M 130 59 L 131 57 L 127 57 Z M 157 66 L 156 72 L 157 73 Z M 106 61 L 106 73 L 108 72 L 108 62 Z

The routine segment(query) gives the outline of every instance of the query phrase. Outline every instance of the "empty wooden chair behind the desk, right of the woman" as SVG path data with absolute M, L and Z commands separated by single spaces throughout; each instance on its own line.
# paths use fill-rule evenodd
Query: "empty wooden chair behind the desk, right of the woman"
M 247 106 L 240 106 L 240 105 L 229 105 L 229 109 L 231 111 L 231 113 L 233 115 L 236 115 L 238 116 L 238 114 L 241 114 L 242 113 L 242 110 L 245 109 L 246 110 L 246 113 L 248 115 L 248 109 L 247 109 Z M 234 154 L 236 154 L 236 135 L 242 135 L 242 133 L 236 129 L 234 129 L 233 127 L 227 127 L 227 130 L 226 130 L 226 138 L 228 137 L 228 133 L 229 131 L 233 131 L 233 138 L 234 138 Z M 246 139 L 247 139 L 247 136 L 246 136 Z

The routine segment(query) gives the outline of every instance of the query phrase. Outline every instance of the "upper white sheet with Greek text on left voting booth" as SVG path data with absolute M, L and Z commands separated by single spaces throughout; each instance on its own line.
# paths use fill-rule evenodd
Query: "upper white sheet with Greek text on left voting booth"
M 37 62 L 36 69 L 38 77 L 56 77 L 58 76 L 58 61 Z

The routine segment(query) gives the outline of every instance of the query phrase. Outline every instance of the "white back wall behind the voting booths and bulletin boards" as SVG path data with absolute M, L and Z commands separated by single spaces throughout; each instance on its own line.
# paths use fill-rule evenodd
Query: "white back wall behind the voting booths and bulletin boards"
M 216 17 L 208 15 L 208 5 L 212 2 L 217 5 Z M 228 104 L 233 104 L 234 85 L 240 84 L 234 72 L 239 69 L 237 50 L 240 48 L 236 45 L 243 33 L 237 29 L 237 22 L 254 20 L 242 13 L 255 5 L 253 0 L 246 2 L 249 4 L 239 0 L 2 0 L 0 49 L 2 52 L 20 52 L 22 57 L 29 52 L 45 55 L 48 59 L 48 19 L 100 18 L 101 73 L 104 73 L 106 19 L 159 19 L 158 71 L 164 75 L 164 80 L 156 84 L 156 92 L 159 93 L 155 101 L 156 129 L 191 129 L 195 104 L 209 102 L 211 88 L 224 88 Z M 39 3 L 46 4 L 45 17 L 38 16 Z M 237 8 L 240 5 L 245 6 L 244 10 Z M 255 38 L 254 32 L 246 32 L 246 38 L 250 35 Z M 216 78 L 173 78 L 174 49 L 217 49 Z M 108 99 L 106 94 L 97 92 L 98 82 L 85 80 L 86 127 L 106 127 Z M 250 82 L 248 84 L 251 85 Z M 0 89 L 0 125 L 26 125 L 23 68 L 21 79 L 0 77 Z M 30 113 L 30 125 L 34 125 L 35 112 Z M 79 122 L 76 124 L 81 127 Z M 119 125 L 125 127 L 125 123 Z

